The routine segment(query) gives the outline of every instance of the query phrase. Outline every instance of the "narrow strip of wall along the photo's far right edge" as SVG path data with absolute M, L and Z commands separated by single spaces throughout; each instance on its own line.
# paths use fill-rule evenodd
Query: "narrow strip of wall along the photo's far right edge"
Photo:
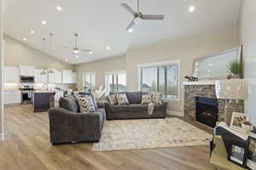
M 245 78 L 249 80 L 249 97 L 246 101 L 246 113 L 256 124 L 256 1 L 241 2 L 240 36 L 244 45 Z

